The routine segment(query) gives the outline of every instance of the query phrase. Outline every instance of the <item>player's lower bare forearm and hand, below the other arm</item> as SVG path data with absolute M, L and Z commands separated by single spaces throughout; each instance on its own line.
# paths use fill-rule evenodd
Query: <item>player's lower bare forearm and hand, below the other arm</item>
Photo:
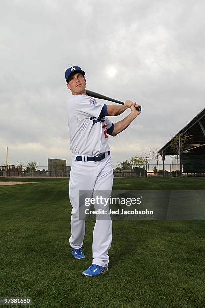
M 130 125 L 130 123 L 132 123 L 132 121 L 134 121 L 134 119 L 141 113 L 141 111 L 136 110 L 136 107 L 138 106 L 138 104 L 133 103 L 133 105 L 130 107 L 131 113 L 123 120 L 114 124 L 114 129 L 111 133 L 113 137 L 115 137 L 121 131 L 125 130 Z

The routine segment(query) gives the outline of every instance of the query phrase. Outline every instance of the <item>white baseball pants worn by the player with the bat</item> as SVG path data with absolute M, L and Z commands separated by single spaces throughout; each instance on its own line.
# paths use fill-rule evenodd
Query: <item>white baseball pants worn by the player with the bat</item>
M 111 155 L 105 155 L 105 159 L 98 162 L 75 161 L 72 157 L 70 172 L 69 192 L 72 205 L 71 237 L 70 245 L 73 248 L 81 248 L 85 235 L 85 220 L 79 220 L 79 191 L 112 191 L 113 168 Z M 94 193 L 93 193 L 94 195 Z M 90 196 L 91 197 L 91 196 Z M 95 209 L 105 209 L 104 205 L 97 205 Z M 92 263 L 106 266 L 109 262 L 108 250 L 112 241 L 112 220 L 96 220 L 93 230 Z

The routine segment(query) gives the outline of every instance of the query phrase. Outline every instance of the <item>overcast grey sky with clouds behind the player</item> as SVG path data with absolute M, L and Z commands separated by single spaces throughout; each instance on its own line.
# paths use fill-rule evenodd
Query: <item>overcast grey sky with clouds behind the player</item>
M 142 105 L 109 138 L 113 163 L 161 148 L 204 108 L 204 11 L 203 0 L 2 0 L 0 165 L 6 146 L 9 164 L 70 165 L 72 65 L 87 89 Z

